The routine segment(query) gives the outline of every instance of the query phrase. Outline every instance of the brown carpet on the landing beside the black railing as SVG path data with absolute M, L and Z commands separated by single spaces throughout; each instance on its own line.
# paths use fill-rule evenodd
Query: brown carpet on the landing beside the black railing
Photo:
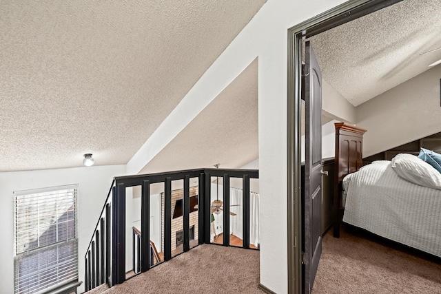
M 264 293 L 258 283 L 259 251 L 203 244 L 123 284 L 89 293 Z

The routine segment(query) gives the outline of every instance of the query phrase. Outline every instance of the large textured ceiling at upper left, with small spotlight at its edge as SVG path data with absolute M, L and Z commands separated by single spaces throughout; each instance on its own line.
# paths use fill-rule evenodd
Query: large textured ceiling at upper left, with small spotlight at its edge
M 1 1 L 0 171 L 127 163 L 263 3 Z

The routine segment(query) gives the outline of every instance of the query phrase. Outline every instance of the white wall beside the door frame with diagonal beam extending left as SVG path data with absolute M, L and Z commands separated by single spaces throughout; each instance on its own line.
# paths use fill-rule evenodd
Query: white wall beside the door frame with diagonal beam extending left
M 138 173 L 258 57 L 260 283 L 276 293 L 287 293 L 288 281 L 287 30 L 343 2 L 267 1 L 127 163 L 127 174 Z

